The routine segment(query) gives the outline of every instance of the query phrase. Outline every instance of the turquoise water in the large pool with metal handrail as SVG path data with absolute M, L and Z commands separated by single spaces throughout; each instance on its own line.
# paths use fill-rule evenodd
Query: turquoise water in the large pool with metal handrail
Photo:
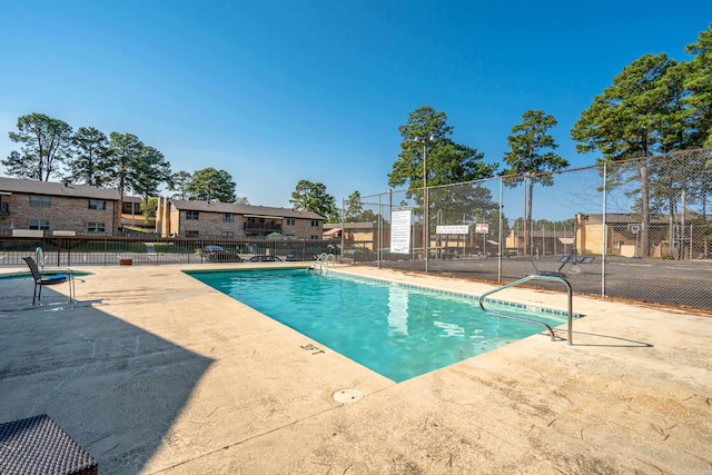
M 395 382 L 542 330 L 536 325 L 485 315 L 476 298 L 338 273 L 188 274 Z M 516 310 L 516 315 L 523 314 L 526 311 Z M 555 313 L 540 311 L 535 318 L 551 326 L 565 323 Z

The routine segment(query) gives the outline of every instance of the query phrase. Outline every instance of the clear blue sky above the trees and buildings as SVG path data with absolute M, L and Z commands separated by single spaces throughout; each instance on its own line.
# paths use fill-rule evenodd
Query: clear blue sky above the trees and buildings
M 342 199 L 387 190 L 398 126 L 444 111 L 454 140 L 500 162 L 527 109 L 558 154 L 593 97 L 644 53 L 685 60 L 709 0 L 0 0 L 0 156 L 17 118 L 130 132 L 172 170 L 228 171 L 253 205 L 297 181 Z M 0 172 L 4 170 L 0 167 Z

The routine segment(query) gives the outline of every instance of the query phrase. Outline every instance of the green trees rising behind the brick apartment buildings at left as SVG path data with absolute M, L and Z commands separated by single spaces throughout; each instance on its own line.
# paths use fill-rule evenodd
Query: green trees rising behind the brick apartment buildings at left
M 95 127 L 75 131 L 61 119 L 32 112 L 18 118 L 17 131 L 8 135 L 21 145 L 19 151 L 12 150 L 0 160 L 12 177 L 116 187 L 121 196 L 140 196 L 144 205 L 159 194 L 162 185 L 175 191 L 172 198 L 249 205 L 247 197 L 236 196 L 236 184 L 227 171 L 208 167 L 194 174 L 174 174 L 164 155 L 134 133 L 111 132 L 107 137 Z M 299 180 L 290 202 L 296 209 L 333 219 L 338 216 L 334 197 L 326 194 L 323 184 Z

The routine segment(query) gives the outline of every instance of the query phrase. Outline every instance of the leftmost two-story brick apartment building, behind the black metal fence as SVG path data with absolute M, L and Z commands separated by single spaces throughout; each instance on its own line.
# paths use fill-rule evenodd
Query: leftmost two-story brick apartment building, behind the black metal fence
M 118 189 L 0 177 L 0 234 L 113 236 L 120 217 Z

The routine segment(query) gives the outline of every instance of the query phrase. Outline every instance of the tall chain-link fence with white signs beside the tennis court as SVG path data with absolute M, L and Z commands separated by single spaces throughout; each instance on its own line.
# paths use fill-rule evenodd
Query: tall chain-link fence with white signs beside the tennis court
M 344 201 L 343 258 L 494 283 L 554 273 L 582 294 L 710 309 L 709 164 L 695 149 L 365 196 Z

